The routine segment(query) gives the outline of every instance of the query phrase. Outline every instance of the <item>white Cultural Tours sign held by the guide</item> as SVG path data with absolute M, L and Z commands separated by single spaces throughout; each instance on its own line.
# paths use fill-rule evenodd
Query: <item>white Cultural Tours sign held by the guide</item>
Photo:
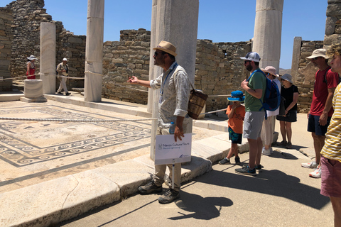
M 175 142 L 174 135 L 156 135 L 155 165 L 190 162 L 192 133 Z

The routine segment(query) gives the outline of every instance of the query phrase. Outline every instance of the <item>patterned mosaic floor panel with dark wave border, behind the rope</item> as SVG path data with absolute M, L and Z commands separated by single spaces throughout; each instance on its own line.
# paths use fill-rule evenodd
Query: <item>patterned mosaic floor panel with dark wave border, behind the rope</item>
M 0 116 L 21 114 L 28 118 L 67 118 L 101 120 L 111 116 L 88 114 L 58 106 L 2 109 Z M 46 162 L 60 157 L 88 153 L 102 148 L 112 148 L 122 143 L 150 137 L 151 130 L 136 122 L 55 122 L 55 121 L 4 121 L 0 123 L 0 158 L 16 167 Z M 91 131 L 89 131 L 89 125 Z M 67 131 L 65 133 L 65 126 Z M 100 132 L 100 133 L 99 133 Z M 99 135 L 100 134 L 100 135 Z M 75 138 L 68 142 L 67 138 Z M 48 138 L 46 138 L 48 137 Z M 48 145 L 41 145 L 42 140 Z

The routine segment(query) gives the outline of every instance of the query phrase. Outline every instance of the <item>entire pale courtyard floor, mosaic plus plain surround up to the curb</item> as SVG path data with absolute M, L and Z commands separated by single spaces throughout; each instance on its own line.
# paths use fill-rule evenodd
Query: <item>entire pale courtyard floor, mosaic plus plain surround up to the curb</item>
M 132 104 L 108 101 L 116 106 Z M 129 106 L 129 107 L 130 107 Z M 48 100 L 0 102 L 0 193 L 150 153 L 152 121 Z M 36 121 L 35 118 L 133 121 Z M 221 132 L 193 127 L 193 140 Z

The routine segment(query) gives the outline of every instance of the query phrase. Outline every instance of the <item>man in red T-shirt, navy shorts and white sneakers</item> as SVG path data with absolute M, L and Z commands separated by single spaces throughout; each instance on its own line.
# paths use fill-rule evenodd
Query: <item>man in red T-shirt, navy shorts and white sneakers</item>
M 315 84 L 313 101 L 308 113 L 308 132 L 311 132 L 314 140 L 315 160 L 313 162 L 302 163 L 302 167 L 315 168 L 309 176 L 321 177 L 320 152 L 325 145 L 325 133 L 332 117 L 332 96 L 339 83 L 339 75 L 330 70 L 328 57 L 325 56 L 325 49 L 313 51 L 313 55 L 306 58 L 318 67 L 315 74 Z

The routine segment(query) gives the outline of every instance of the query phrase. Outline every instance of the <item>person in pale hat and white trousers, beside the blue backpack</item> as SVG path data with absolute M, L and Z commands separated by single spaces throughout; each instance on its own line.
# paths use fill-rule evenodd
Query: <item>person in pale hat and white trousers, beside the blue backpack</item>
M 273 66 L 266 66 L 265 69 L 261 69 L 266 74 L 268 79 L 271 79 L 277 84 L 279 92 L 281 92 L 281 82 L 279 82 L 279 75 L 276 74 L 276 69 Z M 261 150 L 263 155 L 271 155 L 273 153 L 271 144 L 274 141 L 275 122 L 276 115 L 279 114 L 279 108 L 276 111 L 266 111 L 267 119 L 264 118 L 263 126 L 261 127 L 261 140 L 264 143 L 264 147 Z

